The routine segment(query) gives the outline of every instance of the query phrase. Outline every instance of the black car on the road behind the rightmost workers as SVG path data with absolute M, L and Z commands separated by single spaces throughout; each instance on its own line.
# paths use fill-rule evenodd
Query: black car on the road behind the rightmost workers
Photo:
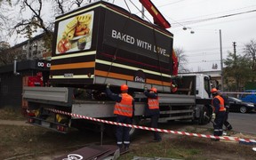
M 239 111 L 241 113 L 246 113 L 252 111 L 254 104 L 252 102 L 245 102 L 235 97 L 228 97 L 229 110 L 230 111 Z

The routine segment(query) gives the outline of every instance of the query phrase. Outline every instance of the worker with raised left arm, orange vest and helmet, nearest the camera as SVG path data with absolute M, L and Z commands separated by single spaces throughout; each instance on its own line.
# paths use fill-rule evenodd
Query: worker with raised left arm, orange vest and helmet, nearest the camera
M 128 94 L 128 85 L 121 85 L 121 93 L 115 94 L 109 89 L 110 84 L 107 85 L 106 93 L 108 97 L 116 101 L 114 114 L 116 115 L 116 122 L 121 124 L 132 124 L 132 117 L 134 116 L 134 100 Z M 116 143 L 118 148 L 129 149 L 130 146 L 130 128 L 117 125 L 116 126 Z

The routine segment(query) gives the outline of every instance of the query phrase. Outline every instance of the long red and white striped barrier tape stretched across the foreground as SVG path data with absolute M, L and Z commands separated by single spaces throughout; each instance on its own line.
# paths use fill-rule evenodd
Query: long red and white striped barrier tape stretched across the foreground
M 240 139 L 240 138 L 237 138 L 237 137 L 228 137 L 228 136 L 205 135 L 205 134 L 190 133 L 190 132 L 178 132 L 178 131 L 164 130 L 164 129 L 159 129 L 159 128 L 150 128 L 150 127 L 146 127 L 146 126 L 133 125 L 133 124 L 121 124 L 121 123 L 116 123 L 116 122 L 107 121 L 107 120 L 103 120 L 103 119 L 93 118 L 93 117 L 90 117 L 90 116 L 81 116 L 81 115 L 77 115 L 77 114 L 73 114 L 73 113 L 68 113 L 68 112 L 53 109 L 53 108 L 47 108 L 47 109 L 54 112 L 54 113 L 58 113 L 58 114 L 62 114 L 62 115 L 74 116 L 74 117 L 83 118 L 83 119 L 87 119 L 87 120 L 91 120 L 91 121 L 95 121 L 95 122 L 100 122 L 100 123 L 104 123 L 104 124 L 114 124 L 114 125 L 136 128 L 136 129 L 140 129 L 140 130 L 155 131 L 155 132 L 166 132 L 166 133 L 172 133 L 172 134 L 180 134 L 180 135 L 210 138 L 210 139 L 234 140 L 234 141 L 244 141 L 244 142 L 256 143 L 256 140 L 250 140 L 250 139 Z

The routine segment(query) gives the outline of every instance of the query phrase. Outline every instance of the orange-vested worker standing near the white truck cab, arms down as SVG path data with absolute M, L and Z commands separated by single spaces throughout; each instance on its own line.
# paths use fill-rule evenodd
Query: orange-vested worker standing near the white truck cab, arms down
M 223 133 L 223 123 L 224 123 L 224 117 L 226 108 L 224 105 L 223 98 L 219 95 L 218 90 L 216 88 L 212 88 L 212 106 L 213 106 L 213 113 L 212 113 L 212 119 L 214 119 L 213 124 L 213 135 L 214 136 L 221 136 Z

